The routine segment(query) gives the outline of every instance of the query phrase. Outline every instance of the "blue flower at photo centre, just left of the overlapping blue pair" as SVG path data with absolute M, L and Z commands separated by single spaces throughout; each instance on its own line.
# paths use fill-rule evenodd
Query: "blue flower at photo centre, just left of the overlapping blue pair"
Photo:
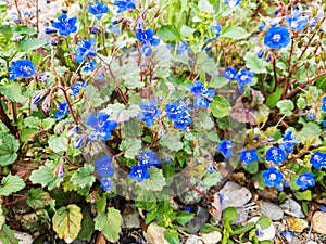
M 161 115 L 161 110 L 158 108 L 158 103 L 155 100 L 150 100 L 148 103 L 140 103 L 141 112 L 138 114 L 137 118 L 145 121 L 146 126 L 154 125 L 154 118 Z

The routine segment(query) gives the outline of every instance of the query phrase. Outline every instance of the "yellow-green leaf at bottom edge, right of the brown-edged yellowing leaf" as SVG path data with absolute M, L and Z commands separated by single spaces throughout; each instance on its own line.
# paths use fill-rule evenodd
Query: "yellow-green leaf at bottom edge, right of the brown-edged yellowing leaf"
M 100 213 L 95 222 L 95 229 L 101 231 L 110 242 L 118 241 L 122 231 L 122 216 L 117 209 L 109 207 L 108 214 Z

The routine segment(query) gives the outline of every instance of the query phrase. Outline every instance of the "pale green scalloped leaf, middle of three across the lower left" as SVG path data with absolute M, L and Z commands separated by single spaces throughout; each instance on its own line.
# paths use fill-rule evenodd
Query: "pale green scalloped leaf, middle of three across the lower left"
M 55 172 L 57 165 L 53 162 L 47 162 L 45 166 L 34 170 L 29 177 L 29 180 L 34 184 L 41 184 L 43 188 L 48 187 L 51 191 L 60 185 L 63 178 L 59 178 Z

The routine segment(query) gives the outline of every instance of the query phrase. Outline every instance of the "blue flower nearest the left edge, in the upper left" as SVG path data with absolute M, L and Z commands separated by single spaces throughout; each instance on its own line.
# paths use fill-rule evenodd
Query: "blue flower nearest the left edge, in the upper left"
M 15 80 L 18 77 L 29 78 L 34 76 L 35 68 L 30 60 L 17 60 L 11 63 L 8 73 L 10 75 L 9 80 Z

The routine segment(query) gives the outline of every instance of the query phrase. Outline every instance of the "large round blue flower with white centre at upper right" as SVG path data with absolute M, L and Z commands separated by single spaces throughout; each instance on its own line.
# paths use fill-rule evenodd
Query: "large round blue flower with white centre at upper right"
M 291 41 L 290 33 L 287 27 L 271 27 L 267 29 L 264 44 L 271 49 L 280 49 L 287 47 Z

